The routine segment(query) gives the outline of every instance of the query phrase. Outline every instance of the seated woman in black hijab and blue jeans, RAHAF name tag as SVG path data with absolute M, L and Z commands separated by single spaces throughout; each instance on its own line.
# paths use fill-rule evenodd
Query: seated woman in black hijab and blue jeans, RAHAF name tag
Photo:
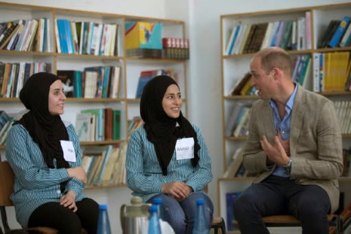
M 132 133 L 127 150 L 127 185 L 152 203 L 162 198 L 162 219 L 176 234 L 191 233 L 196 200 L 204 199 L 208 228 L 213 203 L 204 187 L 213 178 L 202 134 L 182 115 L 178 84 L 167 75 L 150 80 L 141 95 L 144 125 Z

